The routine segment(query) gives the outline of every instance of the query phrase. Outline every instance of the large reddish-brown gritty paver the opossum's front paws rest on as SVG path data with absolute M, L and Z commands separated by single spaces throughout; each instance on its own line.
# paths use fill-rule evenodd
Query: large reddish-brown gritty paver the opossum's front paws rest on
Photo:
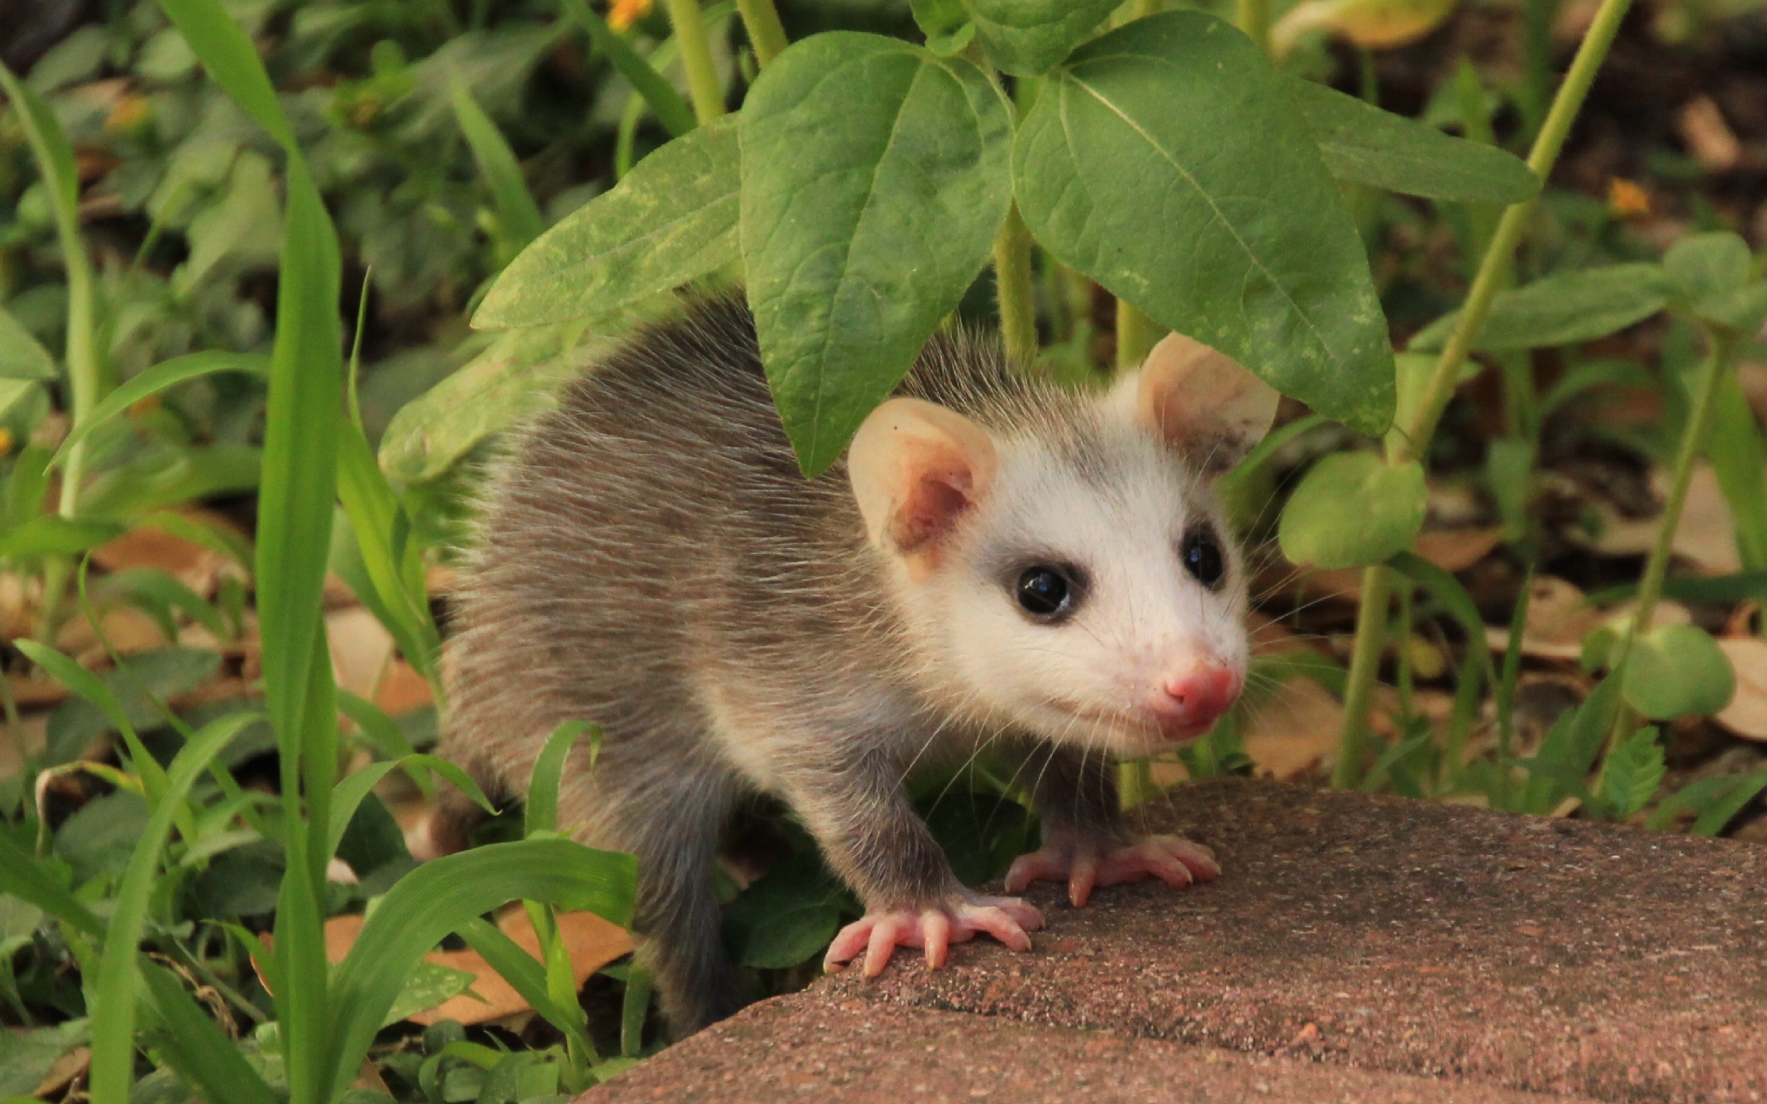
M 1051 1085 L 1117 1070 L 1117 1095 L 1099 1095 L 1111 1100 L 1283 1099 L 1232 1095 L 1255 1069 L 1322 1100 L 1417 1086 L 1437 1100 L 1767 1100 L 1767 848 L 1249 781 L 1175 790 L 1147 828 L 1210 844 L 1221 878 L 1111 887 L 1083 910 L 1039 887 L 1048 926 L 1030 954 L 968 943 L 940 972 L 901 954 L 871 982 L 829 979 L 618 1090 L 652 1095 L 608 1099 L 747 1100 L 820 1078 L 816 1099 L 885 1100 L 919 1085 L 894 1079 L 914 1065 L 945 1070 L 933 1093 L 975 1069 L 991 1072 L 967 1092 L 1057 1099 L 1023 1095 L 1034 1065 Z M 889 1056 L 898 1039 L 905 1058 Z M 845 1063 L 873 1072 L 846 1078 Z M 774 1081 L 772 1065 L 800 1079 Z M 1136 1095 L 1168 1067 L 1226 1081 Z

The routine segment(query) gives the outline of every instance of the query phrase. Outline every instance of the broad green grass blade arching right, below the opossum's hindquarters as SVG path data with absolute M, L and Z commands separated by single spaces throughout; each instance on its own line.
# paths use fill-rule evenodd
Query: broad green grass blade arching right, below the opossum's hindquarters
M 336 1099 L 398 1000 L 412 966 L 451 931 L 505 901 L 585 908 L 631 924 L 636 860 L 567 839 L 498 843 L 426 862 L 382 897 L 330 984 L 329 1088 Z

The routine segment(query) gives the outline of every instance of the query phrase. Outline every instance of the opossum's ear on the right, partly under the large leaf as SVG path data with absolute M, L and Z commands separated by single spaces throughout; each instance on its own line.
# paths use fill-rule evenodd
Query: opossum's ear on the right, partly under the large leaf
M 1232 357 L 1168 334 L 1113 399 L 1205 472 L 1219 473 L 1270 431 L 1281 396 Z

